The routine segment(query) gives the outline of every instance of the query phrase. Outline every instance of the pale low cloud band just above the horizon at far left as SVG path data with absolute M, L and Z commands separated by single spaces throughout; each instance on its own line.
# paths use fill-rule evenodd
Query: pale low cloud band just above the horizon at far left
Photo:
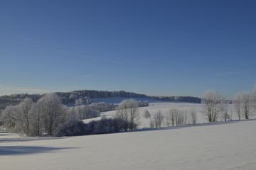
M 5 86 L 0 84 L 0 95 L 8 94 L 44 94 L 48 92 L 53 92 L 47 89 L 34 89 L 31 87 L 22 87 L 22 86 Z

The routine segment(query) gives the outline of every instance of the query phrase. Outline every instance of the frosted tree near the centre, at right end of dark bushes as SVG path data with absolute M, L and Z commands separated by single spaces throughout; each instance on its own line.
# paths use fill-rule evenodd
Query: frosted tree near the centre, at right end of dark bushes
M 124 100 L 119 103 L 115 118 L 120 118 L 126 123 L 124 130 L 134 130 L 139 125 L 138 102 L 134 99 Z

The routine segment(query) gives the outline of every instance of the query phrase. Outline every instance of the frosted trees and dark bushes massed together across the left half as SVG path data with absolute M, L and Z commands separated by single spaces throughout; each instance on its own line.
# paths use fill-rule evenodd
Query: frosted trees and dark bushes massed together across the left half
M 76 132 L 75 134 L 99 134 L 103 132 L 119 132 L 134 130 L 137 128 L 137 111 L 138 107 L 149 106 L 148 101 L 124 100 L 118 104 L 107 103 L 90 103 L 67 107 L 63 105 L 57 94 L 46 94 L 37 102 L 33 102 L 31 98 L 24 98 L 16 106 L 7 106 L 0 113 L 0 124 L 8 132 L 16 132 L 26 136 L 40 135 L 67 135 L 73 134 L 74 130 L 66 128 L 86 129 L 86 132 Z M 125 107 L 124 107 L 125 106 Z M 127 108 L 128 107 L 128 108 Z M 95 118 L 100 116 L 100 112 L 113 111 L 117 109 L 129 109 L 133 111 L 132 116 L 123 119 L 118 116 L 112 120 L 102 120 L 99 123 L 95 121 L 89 123 L 87 128 L 80 120 Z M 110 124 L 102 127 L 102 123 Z M 70 125 L 71 124 L 71 125 Z M 89 128 L 88 128 L 89 127 Z M 103 129 L 100 130 L 99 127 Z M 97 130 L 95 129 L 97 128 Z M 109 129 L 106 131 L 106 129 Z M 79 130 L 78 130 L 79 131 Z M 74 135 L 74 134 L 73 134 Z

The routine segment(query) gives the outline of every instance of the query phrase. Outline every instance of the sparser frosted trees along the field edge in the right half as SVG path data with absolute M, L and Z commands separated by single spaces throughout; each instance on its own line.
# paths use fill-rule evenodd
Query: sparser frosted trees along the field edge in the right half
M 232 108 L 228 106 L 233 103 Z M 256 89 L 252 92 L 238 92 L 233 97 L 233 101 L 225 101 L 218 91 L 205 91 L 202 98 L 200 113 L 208 120 L 209 123 L 227 121 L 232 119 L 232 111 L 237 114 L 238 119 L 249 119 L 256 112 Z M 230 113 L 231 112 L 231 113 Z M 255 115 L 255 114 L 254 114 Z M 157 111 L 151 117 L 149 111 L 144 111 L 143 118 L 150 120 L 150 128 L 161 128 L 180 126 L 186 124 L 196 124 L 198 113 L 195 108 L 189 108 L 184 111 L 180 108 L 170 108 L 168 113 Z

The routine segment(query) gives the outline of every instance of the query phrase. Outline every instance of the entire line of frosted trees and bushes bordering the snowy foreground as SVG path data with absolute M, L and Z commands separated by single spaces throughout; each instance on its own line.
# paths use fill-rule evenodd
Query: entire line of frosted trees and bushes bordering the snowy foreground
M 238 92 L 233 98 L 233 109 L 238 118 L 249 119 L 256 109 L 256 90 Z M 228 120 L 228 103 L 218 91 L 208 90 L 203 94 L 201 113 L 206 116 L 208 122 L 215 122 L 219 118 Z M 139 127 L 139 106 L 149 106 L 148 102 L 124 100 L 119 105 L 106 103 L 91 103 L 67 107 L 63 105 L 57 94 L 46 94 L 38 101 L 25 98 L 16 106 L 7 106 L 0 113 L 0 123 L 8 132 L 18 132 L 27 136 L 35 135 L 85 135 L 104 132 L 120 132 L 134 130 Z M 102 111 L 117 110 L 112 119 L 92 121 L 84 125 L 80 120 L 95 118 Z M 144 118 L 150 118 L 151 128 L 161 128 L 164 125 L 179 126 L 196 124 L 197 113 L 195 108 L 189 111 L 181 111 L 179 108 L 170 108 L 169 113 L 162 114 L 158 111 L 153 118 L 149 111 L 145 111 Z M 74 130 L 72 128 L 75 128 Z M 82 127 L 82 128 L 81 128 Z M 86 128 L 85 128 L 86 127 Z M 71 129 L 70 129 L 71 128 Z M 86 132 L 81 132 L 86 129 Z

